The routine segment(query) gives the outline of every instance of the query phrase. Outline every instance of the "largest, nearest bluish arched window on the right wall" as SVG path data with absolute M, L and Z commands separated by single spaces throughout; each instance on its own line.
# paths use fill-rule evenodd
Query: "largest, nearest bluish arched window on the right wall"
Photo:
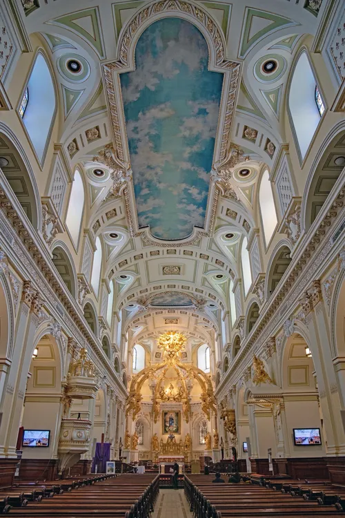
M 288 108 L 303 160 L 320 117 L 324 113 L 324 102 L 306 52 L 302 52 L 299 56 L 293 72 L 288 94 Z

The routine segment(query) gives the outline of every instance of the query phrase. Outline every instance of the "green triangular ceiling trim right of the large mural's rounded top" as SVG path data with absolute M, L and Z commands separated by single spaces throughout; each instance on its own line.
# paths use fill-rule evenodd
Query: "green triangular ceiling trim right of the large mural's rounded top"
M 253 23 L 253 18 L 263 18 L 271 23 L 262 28 L 262 30 L 259 30 L 255 33 L 251 38 L 249 38 L 250 35 L 250 27 Z M 244 30 L 242 30 L 242 44 L 241 44 L 241 50 L 239 52 L 239 57 L 246 57 L 249 50 L 257 44 L 257 42 L 264 38 L 266 35 L 275 32 L 276 30 L 280 28 L 286 28 L 286 27 L 293 27 L 297 26 L 299 23 L 282 16 L 274 15 L 272 12 L 268 11 L 262 11 L 259 9 L 253 9 L 253 8 L 246 8 L 246 13 L 244 15 Z

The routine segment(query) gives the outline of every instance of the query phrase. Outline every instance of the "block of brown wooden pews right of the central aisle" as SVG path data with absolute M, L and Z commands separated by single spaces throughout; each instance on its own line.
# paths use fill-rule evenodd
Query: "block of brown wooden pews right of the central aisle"
M 334 518 L 345 512 L 345 504 L 342 506 L 345 494 L 324 481 L 262 479 L 260 483 L 232 484 L 212 483 L 213 478 L 213 475 L 195 474 L 185 477 L 184 490 L 195 518 L 296 518 L 302 515 Z

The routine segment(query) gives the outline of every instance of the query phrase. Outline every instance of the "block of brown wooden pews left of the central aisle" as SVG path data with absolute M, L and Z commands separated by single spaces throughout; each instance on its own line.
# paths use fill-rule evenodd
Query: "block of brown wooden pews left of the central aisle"
M 159 477 L 152 474 L 78 477 L 19 483 L 1 492 L 3 514 L 14 517 L 148 518 L 157 500 Z

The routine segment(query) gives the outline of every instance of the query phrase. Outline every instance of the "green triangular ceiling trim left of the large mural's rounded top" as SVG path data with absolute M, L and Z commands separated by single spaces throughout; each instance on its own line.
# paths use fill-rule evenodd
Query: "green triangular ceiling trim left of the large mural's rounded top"
M 92 29 L 95 34 L 95 37 L 90 34 L 86 29 L 79 26 L 78 23 L 76 23 L 78 20 L 81 20 L 83 18 L 91 18 L 92 22 Z M 99 10 L 98 7 L 90 8 L 90 9 L 84 9 L 77 12 L 72 12 L 70 15 L 61 16 L 59 18 L 55 18 L 51 21 L 48 21 L 46 23 L 52 23 L 53 25 L 62 26 L 65 28 L 68 28 L 72 32 L 75 32 L 75 34 L 81 36 L 83 39 L 88 41 L 88 43 L 94 48 L 99 55 L 100 58 L 106 57 L 103 50 L 103 43 L 102 43 L 102 36 L 101 36 L 101 29 L 99 26 Z

